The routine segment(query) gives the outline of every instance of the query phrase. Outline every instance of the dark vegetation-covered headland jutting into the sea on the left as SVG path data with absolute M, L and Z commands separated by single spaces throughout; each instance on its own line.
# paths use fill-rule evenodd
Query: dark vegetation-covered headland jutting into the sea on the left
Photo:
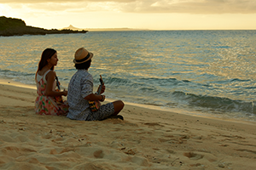
M 23 35 L 46 35 L 46 34 L 70 34 L 70 33 L 86 33 L 87 31 L 73 31 L 69 29 L 63 30 L 46 30 L 33 26 L 26 26 L 26 23 L 20 19 L 0 17 L 0 36 L 23 36 Z

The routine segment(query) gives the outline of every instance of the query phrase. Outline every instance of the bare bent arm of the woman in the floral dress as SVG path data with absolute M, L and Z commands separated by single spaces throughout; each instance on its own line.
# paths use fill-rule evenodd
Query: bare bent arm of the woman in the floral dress
M 47 81 L 46 83 L 46 89 L 45 89 L 45 93 L 44 95 L 46 96 L 67 96 L 67 91 L 64 89 L 62 92 L 56 92 L 54 90 L 52 90 L 53 88 L 53 83 L 55 82 L 55 71 L 49 71 L 49 73 L 46 75 L 45 79 Z

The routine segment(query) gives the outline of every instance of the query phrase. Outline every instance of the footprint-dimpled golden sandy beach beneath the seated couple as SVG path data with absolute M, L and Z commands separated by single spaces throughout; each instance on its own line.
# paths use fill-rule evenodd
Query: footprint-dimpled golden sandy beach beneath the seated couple
M 125 121 L 34 112 L 36 90 L 0 84 L 0 169 L 256 168 L 256 126 L 125 104 Z

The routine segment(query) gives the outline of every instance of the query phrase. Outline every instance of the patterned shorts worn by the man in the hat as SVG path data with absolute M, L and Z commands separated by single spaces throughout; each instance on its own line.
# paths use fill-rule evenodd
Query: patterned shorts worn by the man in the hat
M 90 111 L 90 114 L 87 116 L 85 121 L 101 121 L 102 119 L 113 115 L 113 113 L 113 103 L 108 103 L 106 105 L 101 105 L 98 111 Z

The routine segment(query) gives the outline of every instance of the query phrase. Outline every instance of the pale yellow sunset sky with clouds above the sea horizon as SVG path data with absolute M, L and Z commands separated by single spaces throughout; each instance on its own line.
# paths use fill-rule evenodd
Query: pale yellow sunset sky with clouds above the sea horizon
M 256 0 L 0 0 L 0 16 L 46 29 L 256 30 Z

